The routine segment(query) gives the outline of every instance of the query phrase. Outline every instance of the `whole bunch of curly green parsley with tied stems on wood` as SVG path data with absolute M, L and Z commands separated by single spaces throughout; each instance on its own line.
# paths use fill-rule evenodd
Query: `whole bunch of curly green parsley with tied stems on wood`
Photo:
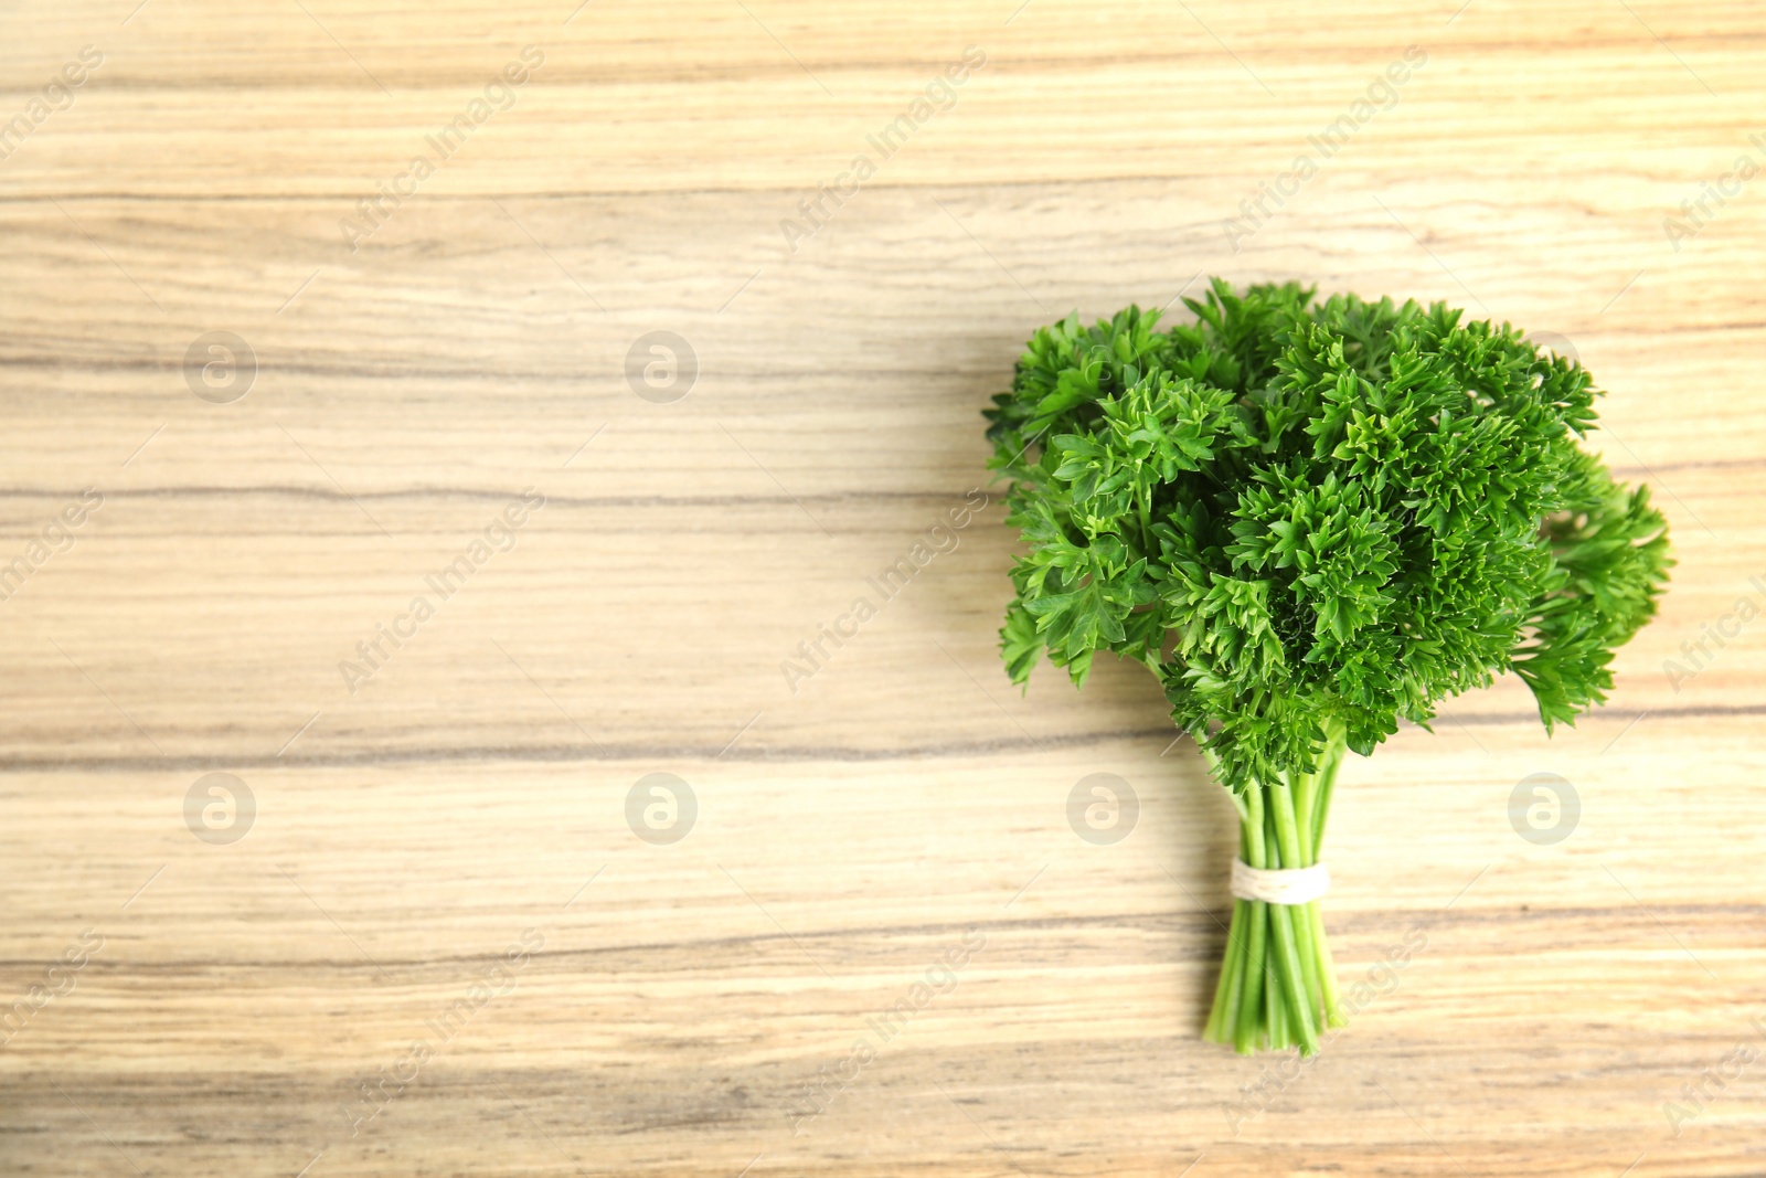
M 1144 662 L 1241 816 L 1252 867 L 1317 860 L 1344 749 L 1517 673 L 1551 729 L 1605 699 L 1667 581 L 1667 526 L 1579 449 L 1595 387 L 1506 323 L 1213 281 L 1196 323 L 1038 328 L 985 417 L 1030 551 L 1000 631 Z M 1208 1037 L 1342 1023 L 1317 902 L 1236 901 Z

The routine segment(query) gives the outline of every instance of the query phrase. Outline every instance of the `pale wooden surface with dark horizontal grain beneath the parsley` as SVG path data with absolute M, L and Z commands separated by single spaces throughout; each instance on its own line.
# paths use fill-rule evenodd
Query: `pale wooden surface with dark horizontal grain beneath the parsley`
M 0 161 L 0 563 L 102 495 L 0 600 L 0 1171 L 1766 1173 L 1766 622 L 1664 669 L 1766 600 L 1766 180 L 1664 230 L 1766 161 L 1757 5 L 136 2 L 0 18 L 0 117 L 102 53 Z M 955 106 L 789 251 L 966 46 Z M 1007 685 L 998 505 L 781 671 L 984 484 L 1037 323 L 1206 274 L 1565 337 L 1679 558 L 1577 729 L 1505 682 L 1346 768 L 1326 924 L 1379 993 L 1305 1069 L 1197 1040 L 1231 807 L 1143 671 Z M 228 404 L 187 381 L 212 330 L 256 364 Z M 669 404 L 623 376 L 652 330 L 698 357 Z M 355 643 L 526 487 L 351 694 Z M 237 842 L 185 821 L 210 772 L 256 798 Z M 678 842 L 627 825 L 652 772 L 694 791 Z M 1067 823 L 1095 772 L 1141 804 L 1113 846 Z M 1563 842 L 1510 825 L 1536 772 L 1579 791 Z

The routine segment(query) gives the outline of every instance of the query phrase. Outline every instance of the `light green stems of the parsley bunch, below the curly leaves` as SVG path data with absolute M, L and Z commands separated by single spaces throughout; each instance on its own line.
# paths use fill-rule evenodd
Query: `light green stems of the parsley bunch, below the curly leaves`
M 1316 772 L 1254 782 L 1234 795 L 1240 857 L 1247 864 L 1286 871 L 1317 862 L 1342 754 L 1337 736 L 1324 745 Z M 1300 1054 L 1314 1054 L 1319 1035 L 1342 1024 L 1317 901 L 1234 899 L 1204 1038 L 1233 1044 L 1241 1054 L 1294 1046 Z

